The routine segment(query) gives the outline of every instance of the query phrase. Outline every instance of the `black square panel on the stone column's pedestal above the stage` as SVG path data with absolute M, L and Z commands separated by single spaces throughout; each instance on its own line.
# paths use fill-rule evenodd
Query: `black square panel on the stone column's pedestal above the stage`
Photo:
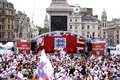
M 67 16 L 51 16 L 51 31 L 67 31 Z

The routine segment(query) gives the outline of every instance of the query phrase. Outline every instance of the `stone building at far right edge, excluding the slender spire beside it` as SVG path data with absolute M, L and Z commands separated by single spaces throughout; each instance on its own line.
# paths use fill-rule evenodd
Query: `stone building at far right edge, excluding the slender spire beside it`
M 120 19 L 109 21 L 106 29 L 107 42 L 109 46 L 120 44 Z

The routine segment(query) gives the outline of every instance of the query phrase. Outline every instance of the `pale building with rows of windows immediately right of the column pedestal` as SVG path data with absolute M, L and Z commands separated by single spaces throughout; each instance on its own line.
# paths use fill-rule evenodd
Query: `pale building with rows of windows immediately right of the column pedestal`
M 100 27 L 97 16 L 93 16 L 92 8 L 81 8 L 72 6 L 73 12 L 70 15 L 69 31 L 85 38 L 99 38 Z

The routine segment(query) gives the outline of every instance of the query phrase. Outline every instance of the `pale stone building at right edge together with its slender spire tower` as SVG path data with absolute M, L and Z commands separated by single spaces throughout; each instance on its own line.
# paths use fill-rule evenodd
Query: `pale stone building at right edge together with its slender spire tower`
M 115 46 L 120 43 L 120 19 L 107 20 L 107 12 L 104 10 L 101 16 L 102 39 L 106 40 L 108 46 Z

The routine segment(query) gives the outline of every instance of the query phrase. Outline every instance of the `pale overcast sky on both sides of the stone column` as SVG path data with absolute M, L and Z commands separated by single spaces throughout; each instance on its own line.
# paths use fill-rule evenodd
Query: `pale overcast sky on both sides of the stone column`
M 93 13 L 101 18 L 103 9 L 106 10 L 108 20 L 120 18 L 120 0 L 67 0 L 70 5 L 79 4 L 81 7 L 93 8 Z M 46 8 L 51 0 L 8 0 L 15 9 L 25 12 L 36 25 L 43 27 Z

